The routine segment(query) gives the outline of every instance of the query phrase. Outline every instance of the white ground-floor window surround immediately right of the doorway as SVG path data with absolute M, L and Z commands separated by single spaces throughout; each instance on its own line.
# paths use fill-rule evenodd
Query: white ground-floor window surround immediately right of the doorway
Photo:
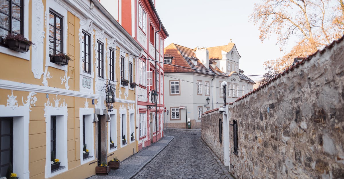
M 109 117 L 110 117 L 110 121 L 109 121 L 109 124 L 108 124 L 108 151 L 109 153 L 111 152 L 114 152 L 117 150 L 117 109 L 114 109 L 112 110 L 111 112 L 108 112 L 109 114 Z M 111 123 L 111 125 L 110 125 Z M 111 126 L 111 127 L 110 127 Z M 111 132 L 110 132 L 111 130 Z M 110 136 L 110 133 L 111 133 L 111 136 Z M 111 140 L 112 142 L 114 142 L 115 144 L 115 147 L 114 148 L 110 148 L 110 137 L 111 137 Z

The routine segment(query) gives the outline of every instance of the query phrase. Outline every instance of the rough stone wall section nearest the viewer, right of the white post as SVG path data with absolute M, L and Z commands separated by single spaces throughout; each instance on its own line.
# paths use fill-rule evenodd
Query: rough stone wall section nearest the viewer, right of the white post
M 229 105 L 239 147 L 233 154 L 230 126 L 231 172 L 237 178 L 344 178 L 343 104 L 341 40 Z

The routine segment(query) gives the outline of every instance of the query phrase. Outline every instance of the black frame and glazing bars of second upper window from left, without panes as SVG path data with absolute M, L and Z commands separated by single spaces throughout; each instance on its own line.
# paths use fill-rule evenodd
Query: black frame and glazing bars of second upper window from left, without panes
M 49 10 L 49 18 L 50 18 L 50 14 L 53 14 L 54 15 L 54 32 L 53 32 L 53 37 L 51 36 L 51 34 L 50 34 L 50 32 L 49 32 L 49 39 L 52 37 L 53 38 L 53 43 L 54 43 L 54 48 L 50 48 L 50 44 L 51 44 L 51 41 L 50 41 L 50 43 L 48 44 L 48 46 L 49 46 L 49 55 L 51 56 L 51 55 L 54 55 L 54 54 L 57 54 L 56 53 L 56 17 L 58 17 L 58 18 L 60 18 L 61 19 L 61 24 L 60 24 L 60 26 L 61 26 L 61 28 L 60 29 L 58 29 L 58 30 L 60 30 L 61 31 L 61 51 L 57 51 L 57 52 L 59 52 L 59 53 L 63 53 L 63 23 L 64 23 L 64 16 L 63 15 L 61 15 L 61 14 L 59 14 L 59 13 L 57 13 L 56 11 L 54 11 L 53 9 L 51 9 L 50 8 L 50 10 Z M 49 23 L 49 21 L 50 21 L 50 19 L 49 20 L 47 20 L 48 21 L 48 23 Z M 50 23 L 49 23 L 49 27 L 50 27 L 51 25 L 50 25 Z M 48 28 L 47 29 L 47 31 L 49 31 L 49 29 L 50 28 Z M 58 40 L 58 41 L 60 41 L 60 40 Z M 50 49 L 52 49 L 53 50 L 53 54 L 50 54 Z M 52 61 L 52 60 L 51 60 Z

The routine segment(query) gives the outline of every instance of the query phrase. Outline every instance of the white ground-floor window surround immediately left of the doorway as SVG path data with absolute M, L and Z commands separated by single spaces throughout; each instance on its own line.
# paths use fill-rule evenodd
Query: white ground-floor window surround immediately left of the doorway
M 94 121 L 94 112 L 93 108 L 79 108 L 79 125 L 80 125 L 80 164 L 83 165 L 95 159 L 95 150 L 94 150 L 94 128 L 93 128 L 93 121 Z M 85 116 L 85 142 L 87 145 L 87 149 L 89 151 L 89 155 L 92 156 L 87 159 L 83 159 L 83 148 L 84 148 L 84 141 L 83 141 L 83 115 Z M 87 131 L 87 133 L 86 133 Z

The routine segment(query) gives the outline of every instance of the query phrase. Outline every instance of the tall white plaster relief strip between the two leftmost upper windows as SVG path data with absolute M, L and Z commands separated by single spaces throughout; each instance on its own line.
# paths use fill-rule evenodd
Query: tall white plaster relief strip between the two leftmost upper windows
M 35 44 L 31 46 L 31 71 L 36 79 L 41 79 L 43 74 L 43 50 L 44 50 L 44 21 L 46 21 L 46 14 L 44 19 L 44 7 L 41 0 L 32 1 L 32 12 L 35 12 L 32 19 L 32 38 L 31 41 Z

